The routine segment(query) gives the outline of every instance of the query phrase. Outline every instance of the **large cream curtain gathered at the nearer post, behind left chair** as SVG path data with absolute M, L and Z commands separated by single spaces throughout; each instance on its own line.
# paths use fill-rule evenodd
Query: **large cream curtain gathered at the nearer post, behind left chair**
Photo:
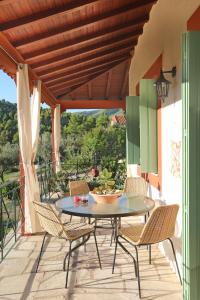
M 28 66 L 17 71 L 17 113 L 21 157 L 25 175 L 25 233 L 41 231 L 32 202 L 40 201 L 39 184 L 34 167 L 40 127 L 41 82 L 34 86 L 30 101 Z

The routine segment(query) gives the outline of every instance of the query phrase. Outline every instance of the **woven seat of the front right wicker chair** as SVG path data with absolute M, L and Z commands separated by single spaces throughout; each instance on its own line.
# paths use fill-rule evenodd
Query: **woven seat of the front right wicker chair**
M 140 239 L 143 227 L 144 224 L 135 224 L 129 227 L 122 227 L 121 229 L 119 229 L 119 235 L 137 244 Z

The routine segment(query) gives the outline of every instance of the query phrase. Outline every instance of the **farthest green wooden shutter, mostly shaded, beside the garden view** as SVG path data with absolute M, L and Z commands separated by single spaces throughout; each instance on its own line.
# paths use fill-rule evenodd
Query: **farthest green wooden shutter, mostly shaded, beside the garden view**
M 140 162 L 139 97 L 126 97 L 126 151 L 128 164 Z

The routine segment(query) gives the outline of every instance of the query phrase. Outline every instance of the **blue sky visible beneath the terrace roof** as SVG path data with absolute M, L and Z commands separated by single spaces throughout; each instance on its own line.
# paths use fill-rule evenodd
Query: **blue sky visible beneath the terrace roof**
M 0 70 L 0 99 L 16 103 L 16 85 L 14 80 Z M 42 107 L 48 107 L 43 105 Z M 86 109 L 70 109 L 68 112 L 84 111 Z

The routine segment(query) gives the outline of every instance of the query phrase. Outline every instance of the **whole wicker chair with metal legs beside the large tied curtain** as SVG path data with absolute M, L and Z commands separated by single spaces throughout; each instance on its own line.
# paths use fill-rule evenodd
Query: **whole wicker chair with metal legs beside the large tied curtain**
M 39 267 L 40 259 L 42 256 L 42 250 L 45 243 L 45 238 L 49 234 L 51 236 L 57 237 L 59 239 L 65 239 L 69 241 L 69 252 L 66 254 L 64 262 L 63 262 L 63 270 L 65 271 L 66 259 L 68 257 L 67 263 L 67 274 L 66 274 L 66 284 L 65 287 L 67 288 L 68 282 L 68 273 L 69 273 L 69 264 L 70 264 L 70 257 L 71 253 L 79 248 L 80 246 L 84 245 L 90 238 L 90 235 L 94 235 L 99 266 L 101 268 L 101 260 L 99 256 L 99 250 L 97 246 L 96 234 L 94 226 L 90 224 L 83 224 L 83 223 L 68 223 L 67 225 L 63 224 L 59 217 L 59 212 L 50 204 L 48 203 L 41 203 L 41 202 L 33 202 L 35 210 L 38 214 L 40 224 L 45 231 L 44 238 L 42 241 L 42 246 L 40 250 L 40 254 L 38 257 L 38 262 L 36 266 L 36 273 Z M 72 248 L 72 242 L 83 238 L 82 242 L 79 242 Z

